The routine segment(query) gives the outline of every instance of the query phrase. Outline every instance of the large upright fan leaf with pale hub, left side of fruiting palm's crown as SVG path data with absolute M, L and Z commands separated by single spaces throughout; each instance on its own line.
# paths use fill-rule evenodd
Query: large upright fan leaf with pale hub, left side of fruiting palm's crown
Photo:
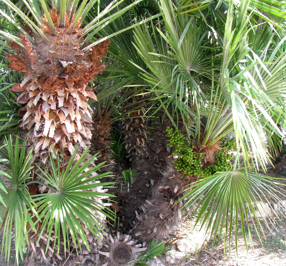
M 156 110 L 167 110 L 172 103 L 174 112 L 179 110 L 183 119 L 192 124 L 191 120 L 200 120 L 193 110 L 205 106 L 206 92 L 217 82 L 213 79 L 218 77 L 219 60 L 209 42 L 206 25 L 202 20 L 178 13 L 181 7 L 176 4 L 177 1 L 160 1 L 163 21 L 134 29 L 135 48 L 148 70 L 134 64 L 153 86 L 150 92 L 156 93 Z M 161 28 L 163 22 L 167 31 Z

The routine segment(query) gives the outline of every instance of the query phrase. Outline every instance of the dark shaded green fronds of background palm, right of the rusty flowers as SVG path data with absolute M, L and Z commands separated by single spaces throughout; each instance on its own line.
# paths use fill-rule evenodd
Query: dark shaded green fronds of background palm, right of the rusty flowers
M 118 32 L 126 27 L 131 27 L 132 21 L 136 19 L 133 18 L 133 12 L 135 12 L 134 9 L 125 13 L 119 20 L 115 20 L 101 29 L 98 35 L 104 37 L 112 34 L 112 32 Z M 89 13 L 89 18 L 92 19 L 93 15 L 94 13 Z M 141 56 L 134 49 L 132 42 L 134 42 L 134 37 L 131 29 L 112 38 L 108 47 L 107 67 L 102 75 L 103 79 L 97 82 L 98 103 L 95 102 L 93 106 L 96 107 L 98 115 L 100 115 L 100 111 L 98 111 L 100 107 L 104 110 L 109 110 L 108 117 L 112 118 L 112 122 L 122 118 L 124 114 L 120 110 L 120 107 L 122 106 L 122 102 L 127 99 L 126 97 L 129 97 L 125 93 L 122 95 L 119 91 L 128 90 L 130 93 L 132 90 L 134 95 L 138 86 L 142 87 L 144 84 L 144 81 L 140 77 L 141 70 L 134 63 L 143 69 L 147 69 L 147 67 Z M 133 84 L 138 84 L 138 86 L 133 86 Z M 119 96 L 118 93 L 121 95 L 121 99 L 115 99 Z M 117 112 L 116 115 L 114 115 L 114 112 Z

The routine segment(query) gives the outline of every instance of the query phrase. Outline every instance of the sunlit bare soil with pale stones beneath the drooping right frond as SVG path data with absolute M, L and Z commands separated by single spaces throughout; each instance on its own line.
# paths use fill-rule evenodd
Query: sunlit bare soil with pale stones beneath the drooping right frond
M 205 230 L 199 231 L 199 226 L 193 228 L 194 221 L 189 220 L 183 222 L 180 228 L 176 229 L 176 235 L 166 244 L 162 257 L 159 259 L 165 266 L 171 265 L 193 265 L 193 266 L 260 266 L 260 265 L 286 265 L 286 217 L 281 217 L 279 227 L 271 226 L 269 229 L 264 227 L 265 237 L 262 238 L 261 245 L 258 236 L 255 233 L 254 227 L 251 228 L 253 237 L 253 248 L 248 245 L 248 254 L 245 248 L 242 236 L 238 237 L 238 255 L 235 250 L 235 239 L 232 237 L 231 250 L 229 254 L 228 243 L 224 249 L 224 243 L 221 241 L 219 245 L 214 244 L 212 251 L 212 241 L 209 241 L 208 235 L 205 235 Z M 192 231 L 192 232 L 190 232 Z M 261 234 L 261 237 L 262 234 Z M 188 253 L 181 260 L 175 264 L 169 263 L 166 258 L 168 256 L 168 249 L 172 245 L 178 243 L 180 239 L 193 240 L 195 250 Z

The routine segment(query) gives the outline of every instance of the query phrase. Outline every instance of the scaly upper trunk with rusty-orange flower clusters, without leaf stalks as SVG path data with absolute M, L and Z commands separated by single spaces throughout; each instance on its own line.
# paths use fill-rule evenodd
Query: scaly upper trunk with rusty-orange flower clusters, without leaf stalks
M 41 25 L 48 42 L 36 36 L 32 44 L 22 34 L 24 48 L 11 44 L 17 52 L 8 55 L 11 69 L 25 73 L 22 83 L 12 90 L 22 92 L 17 99 L 19 103 L 26 103 L 21 127 L 27 132 L 35 157 L 43 162 L 51 148 L 68 154 L 77 144 L 79 153 L 90 145 L 92 109 L 87 101 L 96 100 L 96 96 L 87 83 L 104 70 L 100 60 L 109 44 L 107 40 L 84 52 L 80 21 L 69 32 L 73 20 L 69 20 L 68 14 L 65 27 L 59 27 L 56 10 L 51 11 L 50 16 L 55 35 L 51 34 L 45 17 Z

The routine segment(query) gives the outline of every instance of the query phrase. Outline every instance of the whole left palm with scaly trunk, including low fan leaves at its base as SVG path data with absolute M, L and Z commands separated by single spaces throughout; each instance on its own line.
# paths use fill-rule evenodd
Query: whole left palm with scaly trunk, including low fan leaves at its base
M 36 248 L 34 252 L 36 255 L 46 253 L 46 257 L 43 256 L 46 262 L 54 255 L 55 248 L 58 249 L 57 255 L 59 255 L 62 244 L 60 239 L 64 241 L 63 253 L 65 254 L 66 246 L 70 248 L 70 237 L 75 250 L 78 248 L 81 250 L 81 240 L 88 249 L 90 241 L 93 244 L 94 239 L 100 238 L 103 232 L 102 217 L 107 215 L 107 212 L 103 210 L 105 205 L 102 199 L 111 195 L 106 194 L 101 189 L 104 184 L 97 181 L 107 174 L 93 174 L 103 163 L 94 166 L 96 155 L 91 157 L 88 154 L 93 110 L 87 101 L 88 99 L 97 101 L 97 97 L 93 89 L 87 85 L 93 80 L 94 75 L 105 69 L 102 58 L 108 49 L 109 37 L 115 36 L 118 32 L 112 32 L 92 42 L 91 38 L 140 1 L 134 1 L 129 6 L 119 8 L 119 11 L 110 14 L 124 2 L 111 1 L 102 11 L 98 9 L 91 21 L 87 21 L 87 15 L 100 1 L 41 0 L 19 1 L 16 4 L 15 1 L 2 1 L 4 3 L 0 9 L 2 26 L 9 25 L 7 28 L 13 28 L 13 32 L 16 32 L 15 34 L 12 34 L 12 31 L 7 32 L 5 27 L 1 27 L 0 30 L 1 39 L 9 40 L 8 44 L 11 48 L 6 54 L 8 65 L 12 70 L 24 74 L 22 81 L 15 84 L 11 91 L 19 94 L 17 103 L 24 105 L 24 108 L 21 108 L 23 112 L 21 127 L 27 134 L 30 144 L 27 160 L 40 158 L 43 163 L 48 160 L 50 167 L 46 164 L 46 170 L 41 170 L 42 174 L 38 171 L 39 179 L 35 182 L 40 187 L 54 192 L 37 195 L 37 203 L 39 203 L 37 210 L 41 213 L 39 215 L 33 213 L 34 218 L 38 218 L 34 221 L 29 217 L 30 213 L 27 213 L 25 202 L 21 203 L 19 199 L 20 207 L 7 204 L 18 198 L 13 199 L 11 197 L 13 191 L 9 193 L 1 183 L 1 190 L 8 191 L 8 195 L 0 198 L 1 203 L 5 203 L 5 208 L 1 208 L 1 220 L 4 220 L 7 212 L 11 214 L 11 219 L 4 225 L 7 237 L 11 234 L 13 211 L 17 213 L 21 213 L 21 210 L 25 211 L 25 219 L 20 221 L 21 224 L 16 233 L 17 262 L 18 251 L 22 257 L 22 248 L 25 251 L 26 244 L 29 244 L 27 219 L 34 232 L 38 229 L 39 233 L 36 238 L 30 239 L 33 249 L 37 247 L 33 245 L 39 245 L 39 243 L 44 245 L 44 248 Z M 18 21 L 22 21 L 23 24 L 20 25 Z M 83 21 L 86 25 L 81 27 Z M 17 153 L 18 151 L 15 157 L 18 156 Z M 24 153 L 25 145 L 21 152 L 22 158 L 25 157 Z M 61 160 L 65 165 L 61 166 Z M 13 178 L 10 179 L 13 181 Z M 19 184 L 13 186 L 12 190 L 17 190 L 18 185 L 22 186 L 23 189 L 20 192 L 27 197 L 26 202 L 30 200 L 32 202 L 30 206 L 34 206 L 26 184 L 26 180 L 30 178 L 31 176 L 27 174 L 25 178 L 17 179 Z M 60 187 L 59 183 L 63 186 Z M 67 203 L 66 200 L 59 202 L 58 194 L 67 190 L 71 194 L 65 195 L 71 202 Z M 80 214 L 76 202 L 80 202 L 79 205 L 82 207 L 86 206 L 81 208 L 85 215 Z M 60 205 L 56 206 L 55 204 L 58 203 Z M 51 205 L 55 208 L 49 208 Z M 57 243 L 54 241 L 51 244 L 51 234 L 53 239 L 57 239 Z M 89 234 L 88 239 L 85 234 Z M 5 241 L 3 248 L 7 258 L 11 241 L 9 237 Z M 92 246 L 96 249 L 95 245 Z

